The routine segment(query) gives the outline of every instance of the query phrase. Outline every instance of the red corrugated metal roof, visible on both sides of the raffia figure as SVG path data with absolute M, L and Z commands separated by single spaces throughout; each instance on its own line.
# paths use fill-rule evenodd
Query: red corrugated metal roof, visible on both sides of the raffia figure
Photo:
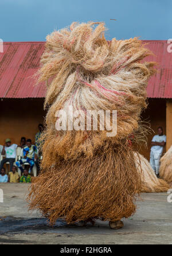
M 150 79 L 147 96 L 150 98 L 172 98 L 172 53 L 167 52 L 166 41 L 144 40 L 155 56 L 147 61 L 158 62 L 158 73 Z M 33 74 L 40 66 L 40 57 L 45 42 L 3 43 L 0 53 L 0 97 L 36 98 L 45 97 L 45 84 L 35 85 Z

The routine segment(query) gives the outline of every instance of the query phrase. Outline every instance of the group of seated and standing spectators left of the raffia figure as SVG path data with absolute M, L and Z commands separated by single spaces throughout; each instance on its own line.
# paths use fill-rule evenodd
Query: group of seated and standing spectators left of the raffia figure
M 35 136 L 35 145 L 32 144 L 32 140 L 25 137 L 21 138 L 19 145 L 12 144 L 11 140 L 7 138 L 5 140 L 5 145 L 0 145 L 0 159 L 1 156 L 5 156 L 1 160 L 0 164 L 0 183 L 30 183 L 31 174 L 34 165 L 36 165 L 37 172 L 40 171 L 40 160 L 41 160 L 41 150 L 40 150 L 40 137 L 44 130 L 42 124 L 38 125 L 38 133 Z M 21 157 L 17 159 L 17 148 L 21 148 Z M 9 163 L 9 174 L 6 174 L 6 169 L 4 165 Z M 25 164 L 28 164 L 29 170 L 26 168 Z M 21 171 L 21 177 L 19 176 L 17 168 Z

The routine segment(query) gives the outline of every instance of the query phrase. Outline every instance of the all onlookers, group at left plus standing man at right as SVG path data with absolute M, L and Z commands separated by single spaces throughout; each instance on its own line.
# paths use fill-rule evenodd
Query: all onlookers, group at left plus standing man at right
M 37 167 L 37 171 L 40 170 L 40 155 L 41 152 L 38 153 L 38 148 L 40 146 L 40 137 L 41 133 L 44 129 L 42 124 L 38 125 L 38 133 L 35 136 L 35 145 L 32 144 L 32 140 L 26 140 L 25 137 L 21 138 L 21 142 L 19 145 L 11 144 L 11 140 L 9 138 L 6 139 L 5 145 L 0 145 L 0 157 L 1 155 L 5 155 L 6 157 L 1 161 L 0 165 L 0 183 L 30 183 L 31 182 L 31 174 L 34 165 Z M 153 168 L 155 174 L 159 178 L 159 165 L 160 159 L 163 153 L 163 149 L 166 145 L 166 135 L 163 134 L 163 128 L 158 127 L 158 134 L 153 137 L 151 142 L 151 153 L 150 153 L 150 165 Z M 16 150 L 20 147 L 22 149 L 22 157 L 18 161 L 15 162 L 16 158 Z M 9 175 L 6 174 L 6 170 L 3 167 L 5 163 L 9 162 L 10 171 Z M 15 165 L 14 165 L 15 162 Z M 30 168 L 29 170 L 24 168 L 24 164 L 28 163 Z M 19 177 L 18 170 L 21 171 L 22 176 Z

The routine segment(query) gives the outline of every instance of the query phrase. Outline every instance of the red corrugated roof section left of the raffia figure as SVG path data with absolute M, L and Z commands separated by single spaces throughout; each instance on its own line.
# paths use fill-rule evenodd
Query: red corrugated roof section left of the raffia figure
M 33 78 L 40 66 L 44 42 L 3 43 L 0 53 L 0 97 L 45 97 L 45 84 L 37 85 Z

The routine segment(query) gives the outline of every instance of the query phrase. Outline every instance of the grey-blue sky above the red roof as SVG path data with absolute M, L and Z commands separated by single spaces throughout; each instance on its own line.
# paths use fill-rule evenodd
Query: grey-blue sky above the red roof
M 172 38 L 171 0 L 0 0 L 0 10 L 4 42 L 45 41 L 73 21 L 104 21 L 108 40 Z

